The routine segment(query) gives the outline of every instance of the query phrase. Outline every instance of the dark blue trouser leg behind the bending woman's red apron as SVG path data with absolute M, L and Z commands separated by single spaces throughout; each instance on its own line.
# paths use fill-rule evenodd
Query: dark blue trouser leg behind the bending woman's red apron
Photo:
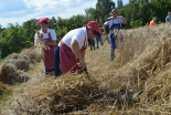
M 56 45 L 54 49 L 54 71 L 55 71 L 55 79 L 62 74 L 60 69 L 60 46 Z

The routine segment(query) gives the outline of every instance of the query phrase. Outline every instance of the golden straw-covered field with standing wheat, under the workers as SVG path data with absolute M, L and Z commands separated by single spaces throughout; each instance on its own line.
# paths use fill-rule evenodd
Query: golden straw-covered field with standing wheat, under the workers
M 2 115 L 170 115 L 171 24 L 121 30 L 122 50 L 86 51 L 89 77 L 44 79 L 43 64 L 1 105 Z

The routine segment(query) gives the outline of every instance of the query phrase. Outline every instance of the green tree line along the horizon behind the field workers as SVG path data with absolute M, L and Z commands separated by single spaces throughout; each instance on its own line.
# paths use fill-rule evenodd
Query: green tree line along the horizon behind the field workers
M 171 0 L 129 0 L 129 3 L 124 6 L 122 0 L 116 3 L 113 0 L 97 0 L 95 8 L 85 9 L 85 15 L 77 14 L 70 19 L 62 19 L 61 17 L 52 17 L 49 28 L 55 30 L 57 35 L 57 43 L 72 29 L 84 27 L 90 20 L 97 20 L 100 27 L 104 20 L 107 19 L 111 9 L 118 9 L 119 14 L 128 20 L 126 29 L 138 28 L 146 25 L 156 17 L 158 21 L 164 22 L 168 11 L 170 11 Z M 22 49 L 33 46 L 38 19 L 31 19 L 23 22 L 22 25 L 18 23 L 9 23 L 7 28 L 0 25 L 0 58 Z

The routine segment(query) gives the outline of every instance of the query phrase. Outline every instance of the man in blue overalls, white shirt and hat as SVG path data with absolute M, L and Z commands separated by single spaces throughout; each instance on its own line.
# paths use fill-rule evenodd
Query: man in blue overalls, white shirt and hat
M 109 36 L 110 36 L 110 61 L 114 61 L 115 58 L 115 49 L 116 42 L 115 42 L 115 35 L 114 35 L 114 29 L 121 29 L 121 23 L 127 24 L 127 20 L 122 15 L 118 15 L 118 11 L 116 9 L 113 9 L 111 12 L 109 13 L 111 17 L 109 17 L 106 22 L 104 23 L 104 32 L 106 32 L 106 25 L 109 24 Z

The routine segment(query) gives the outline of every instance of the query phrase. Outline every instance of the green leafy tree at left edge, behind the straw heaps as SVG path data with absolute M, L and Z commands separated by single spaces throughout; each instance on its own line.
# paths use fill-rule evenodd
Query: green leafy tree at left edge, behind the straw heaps
M 25 38 L 24 29 L 18 23 L 8 24 L 8 28 L 0 33 L 1 58 L 6 58 L 13 52 L 20 52 L 24 48 L 30 48 L 32 42 Z

